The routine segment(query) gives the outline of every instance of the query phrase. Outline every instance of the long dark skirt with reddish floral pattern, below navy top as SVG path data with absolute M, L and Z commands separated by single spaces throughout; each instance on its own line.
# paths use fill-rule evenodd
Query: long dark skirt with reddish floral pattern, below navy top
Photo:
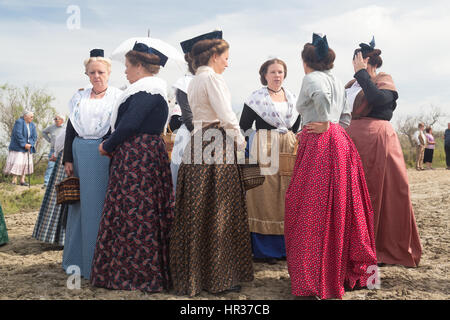
M 174 194 L 164 141 L 138 135 L 112 158 L 91 284 L 160 292 L 170 287 Z

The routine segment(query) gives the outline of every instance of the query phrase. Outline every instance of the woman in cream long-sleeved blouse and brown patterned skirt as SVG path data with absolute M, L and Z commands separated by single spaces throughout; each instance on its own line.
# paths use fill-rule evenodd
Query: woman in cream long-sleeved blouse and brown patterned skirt
M 245 148 L 245 138 L 221 75 L 228 66 L 228 48 L 222 39 L 202 40 L 190 52 L 197 68 L 188 87 L 194 133 L 178 172 L 169 250 L 180 295 L 236 292 L 241 281 L 253 280 L 245 191 L 235 153 L 235 145 Z

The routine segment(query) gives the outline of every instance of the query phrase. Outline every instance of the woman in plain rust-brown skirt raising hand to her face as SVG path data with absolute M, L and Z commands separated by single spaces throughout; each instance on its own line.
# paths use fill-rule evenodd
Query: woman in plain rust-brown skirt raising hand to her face
M 402 148 L 389 122 L 398 93 L 389 74 L 376 72 L 383 62 L 380 54 L 374 40 L 355 50 L 355 79 L 346 85 L 353 106 L 347 132 L 364 167 L 374 212 L 378 262 L 417 267 L 422 247 Z

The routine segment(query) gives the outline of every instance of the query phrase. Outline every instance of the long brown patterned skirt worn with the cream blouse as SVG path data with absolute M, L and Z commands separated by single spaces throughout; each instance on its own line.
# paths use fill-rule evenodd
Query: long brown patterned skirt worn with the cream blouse
M 224 130 L 217 125 L 214 129 L 225 141 Z M 191 160 L 195 158 L 194 139 L 195 135 L 186 147 Z M 197 151 L 203 153 L 208 145 L 204 141 Z M 180 166 L 170 236 L 170 270 L 179 295 L 194 296 L 202 290 L 218 293 L 253 280 L 244 185 L 233 161 L 205 164 L 203 159 L 200 164 L 183 162 Z

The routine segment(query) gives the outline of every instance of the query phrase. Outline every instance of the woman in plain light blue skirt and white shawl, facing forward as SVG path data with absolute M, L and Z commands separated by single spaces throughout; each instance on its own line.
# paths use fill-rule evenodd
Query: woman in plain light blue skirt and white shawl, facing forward
M 64 142 L 64 169 L 67 176 L 80 179 L 80 201 L 69 205 L 62 264 L 67 272 L 78 266 L 89 279 L 109 171 L 109 158 L 98 153 L 98 146 L 122 91 L 108 86 L 111 61 L 103 50 L 91 50 L 84 65 L 92 88 L 78 90 L 70 100 Z

